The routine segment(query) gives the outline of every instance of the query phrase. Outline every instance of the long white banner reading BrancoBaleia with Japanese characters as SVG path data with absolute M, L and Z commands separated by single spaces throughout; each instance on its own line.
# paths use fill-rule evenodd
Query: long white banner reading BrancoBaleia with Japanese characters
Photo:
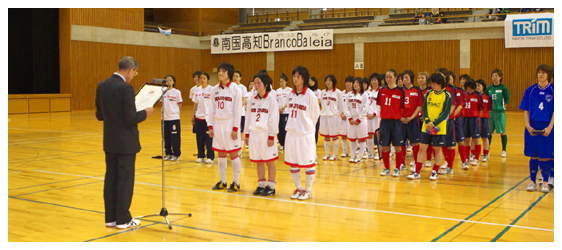
M 331 29 L 211 36 L 211 54 L 331 50 L 333 46 Z

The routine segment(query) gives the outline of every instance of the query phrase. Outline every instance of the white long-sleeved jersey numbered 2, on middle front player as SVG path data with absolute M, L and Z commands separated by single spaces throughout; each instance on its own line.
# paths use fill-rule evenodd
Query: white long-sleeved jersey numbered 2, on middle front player
M 267 131 L 268 136 L 275 137 L 279 133 L 279 104 L 275 91 L 266 92 L 263 97 L 256 92 L 248 98 L 247 105 L 246 136 L 251 131 Z

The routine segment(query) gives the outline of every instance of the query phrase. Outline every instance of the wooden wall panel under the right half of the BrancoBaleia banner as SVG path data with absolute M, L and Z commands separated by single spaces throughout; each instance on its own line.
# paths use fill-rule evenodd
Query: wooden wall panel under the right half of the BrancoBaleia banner
M 293 88 L 291 73 L 296 66 L 308 69 L 310 76 L 318 79 L 318 88 L 325 89 L 324 78 L 328 74 L 336 77 L 338 89 L 345 89 L 344 79 L 354 74 L 354 45 L 335 44 L 332 50 L 307 50 L 275 52 L 275 75 L 273 85 L 279 88 L 279 77 L 285 73 L 289 78 L 289 87 Z

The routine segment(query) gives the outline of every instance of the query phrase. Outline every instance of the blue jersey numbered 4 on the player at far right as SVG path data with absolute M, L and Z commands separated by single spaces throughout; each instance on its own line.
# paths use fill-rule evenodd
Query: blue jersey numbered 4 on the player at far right
M 529 121 L 550 122 L 554 114 L 554 85 L 549 83 L 541 89 L 537 83 L 528 87 L 519 108 L 529 112 Z

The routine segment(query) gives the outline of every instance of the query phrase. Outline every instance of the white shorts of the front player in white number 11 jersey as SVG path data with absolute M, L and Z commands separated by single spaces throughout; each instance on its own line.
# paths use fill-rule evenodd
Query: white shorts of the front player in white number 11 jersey
M 316 161 L 314 133 L 299 134 L 287 131 L 285 137 L 285 164 L 291 167 L 311 168 Z

